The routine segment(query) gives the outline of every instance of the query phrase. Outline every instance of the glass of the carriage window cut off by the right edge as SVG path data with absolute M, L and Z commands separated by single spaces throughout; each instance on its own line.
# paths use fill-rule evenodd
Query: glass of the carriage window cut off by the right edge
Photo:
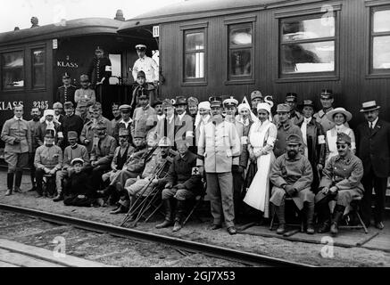
M 390 72 L 390 9 L 374 10 L 371 27 L 371 73 Z

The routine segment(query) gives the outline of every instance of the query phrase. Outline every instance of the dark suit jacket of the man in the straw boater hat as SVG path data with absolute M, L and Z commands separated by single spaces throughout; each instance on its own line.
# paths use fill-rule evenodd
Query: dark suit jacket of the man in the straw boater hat
M 364 122 L 356 129 L 357 155 L 361 158 L 364 172 L 372 167 L 378 177 L 390 175 L 390 124 L 378 118 L 372 133 L 369 123 Z

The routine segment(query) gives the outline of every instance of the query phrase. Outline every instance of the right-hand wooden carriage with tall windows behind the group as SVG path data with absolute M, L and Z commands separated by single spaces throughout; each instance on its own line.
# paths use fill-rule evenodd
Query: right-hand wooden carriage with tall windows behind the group
M 389 118 L 390 1 L 186 1 L 124 22 L 120 35 L 159 30 L 163 95 L 243 98 L 256 89 L 281 102 L 287 92 L 363 117 L 377 100 Z M 319 105 L 317 106 L 319 107 Z

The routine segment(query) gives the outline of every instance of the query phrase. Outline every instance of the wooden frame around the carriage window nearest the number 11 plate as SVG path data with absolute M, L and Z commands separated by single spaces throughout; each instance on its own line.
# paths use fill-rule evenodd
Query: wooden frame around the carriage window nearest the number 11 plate
M 182 86 L 192 86 L 192 85 L 207 85 L 207 76 L 208 76 L 208 64 L 207 64 L 207 58 L 208 58 L 208 22 L 201 22 L 201 23 L 191 23 L 182 25 L 179 27 L 181 31 L 181 37 L 180 37 L 180 82 Z M 195 50 L 187 52 L 186 49 L 186 36 L 188 34 L 193 33 L 203 33 L 204 37 L 204 48 L 202 50 Z M 203 77 L 199 78 L 191 78 L 186 77 L 186 55 L 190 53 L 203 53 Z

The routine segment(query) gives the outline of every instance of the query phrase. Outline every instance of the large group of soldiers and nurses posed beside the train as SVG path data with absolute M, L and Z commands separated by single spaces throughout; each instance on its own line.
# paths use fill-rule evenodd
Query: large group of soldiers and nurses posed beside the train
M 137 83 L 145 85 L 142 70 Z M 366 122 L 354 132 L 348 125 L 352 114 L 333 108 L 330 90 L 320 93 L 322 109 L 316 113 L 311 100 L 298 105 L 298 95 L 288 93 L 276 114 L 260 91 L 251 94 L 252 106 L 234 97 L 199 102 L 195 96 L 151 104 L 147 88 L 138 91 L 134 110 L 131 103 L 112 104 L 112 120 L 103 117 L 101 103 L 86 90 L 63 103 L 64 114 L 62 102 L 55 102 L 42 117 L 32 109 L 27 122 L 23 106 L 16 106 L 1 133 L 6 195 L 21 191 L 22 168 L 29 164 L 32 191 L 39 197 L 85 207 L 112 203 L 118 206 L 112 214 L 128 212 L 139 196 L 158 188 L 165 212 L 158 228 L 174 225 L 178 231 L 186 200 L 204 194 L 206 185 L 213 230 L 225 222 L 235 234 L 243 208 L 269 218 L 272 204 L 277 232 L 284 233 L 289 198 L 306 215 L 307 233 L 315 232 L 317 210 L 318 232 L 336 234 L 354 199 L 362 199 L 364 222 L 370 224 L 374 188 L 374 222 L 383 229 L 390 124 L 378 118 L 375 101 L 362 103 Z M 329 207 L 330 201 L 336 206 Z

